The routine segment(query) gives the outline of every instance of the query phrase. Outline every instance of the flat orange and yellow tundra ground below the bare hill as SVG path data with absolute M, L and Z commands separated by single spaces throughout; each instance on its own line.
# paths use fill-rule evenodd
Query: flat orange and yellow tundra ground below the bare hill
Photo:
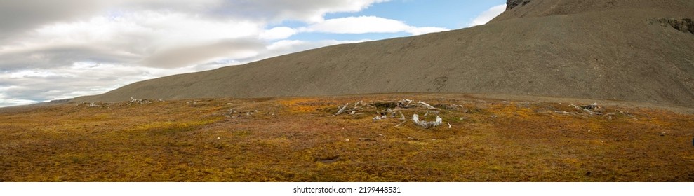
M 345 103 L 354 114 L 335 116 Z M 693 114 L 570 104 L 589 103 L 373 94 L 0 109 L 0 181 L 694 181 Z M 396 118 L 373 120 L 387 109 Z

